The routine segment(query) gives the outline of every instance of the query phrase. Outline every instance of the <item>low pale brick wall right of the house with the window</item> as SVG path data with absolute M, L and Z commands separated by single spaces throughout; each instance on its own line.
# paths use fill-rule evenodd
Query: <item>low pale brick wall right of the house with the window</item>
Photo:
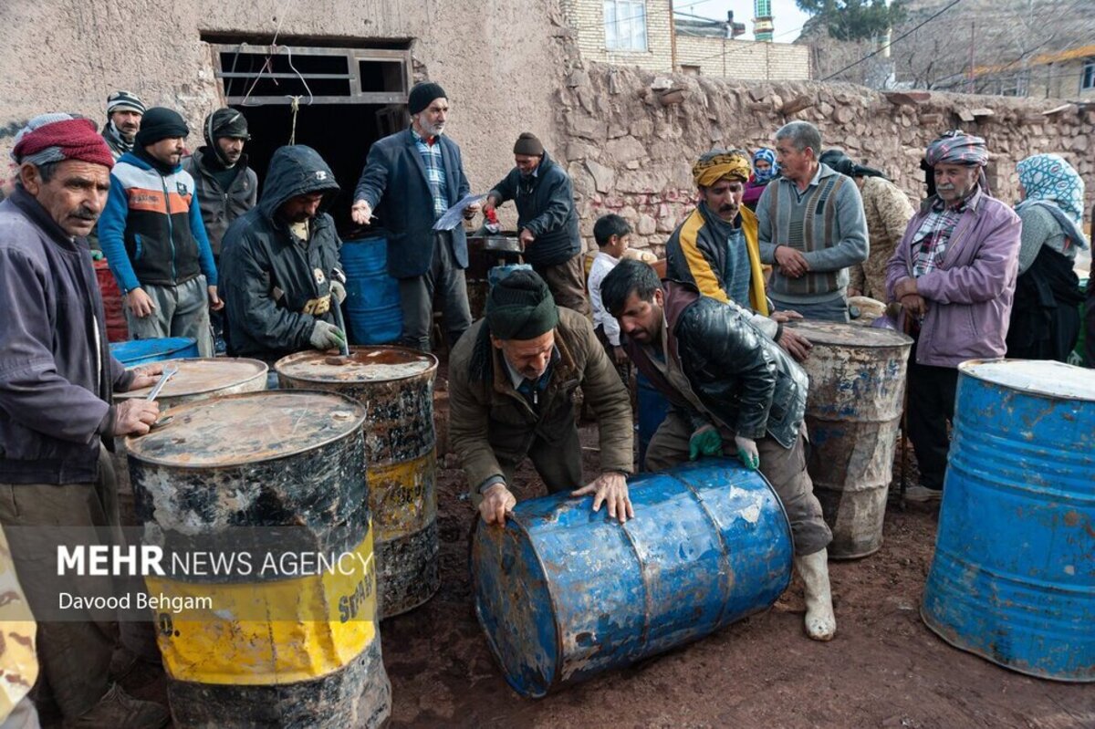
M 754 81 L 806 81 L 810 78 L 809 46 L 789 43 L 678 35 L 677 63 L 699 67 L 701 76 Z

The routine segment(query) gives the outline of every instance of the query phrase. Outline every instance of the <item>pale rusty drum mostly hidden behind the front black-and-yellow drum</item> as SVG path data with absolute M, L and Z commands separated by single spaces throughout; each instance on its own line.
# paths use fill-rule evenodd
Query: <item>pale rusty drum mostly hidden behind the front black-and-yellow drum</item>
M 178 372 L 168 380 L 157 396 L 160 410 L 197 400 L 208 400 L 218 395 L 238 392 L 257 392 L 266 389 L 265 363 L 257 359 L 231 359 L 228 357 L 205 357 L 194 359 L 169 359 L 164 367 L 177 367 Z M 143 398 L 152 387 L 115 393 L 115 401 Z M 122 523 L 137 525 L 132 508 L 132 488 L 129 485 L 129 464 L 126 460 L 124 438 L 114 439 L 114 475 L 118 483 L 118 502 Z

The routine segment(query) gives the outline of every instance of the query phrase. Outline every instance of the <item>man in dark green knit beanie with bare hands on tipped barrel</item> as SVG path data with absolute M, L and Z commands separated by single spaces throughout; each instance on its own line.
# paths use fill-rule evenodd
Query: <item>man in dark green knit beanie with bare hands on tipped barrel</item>
M 574 392 L 581 387 L 599 419 L 601 475 L 585 487 Z M 528 456 L 552 493 L 593 495 L 621 522 L 634 517 L 632 417 L 627 391 L 589 320 L 552 300 L 534 271 L 495 284 L 486 317 L 449 358 L 449 442 L 460 456 L 483 520 L 502 524 Z

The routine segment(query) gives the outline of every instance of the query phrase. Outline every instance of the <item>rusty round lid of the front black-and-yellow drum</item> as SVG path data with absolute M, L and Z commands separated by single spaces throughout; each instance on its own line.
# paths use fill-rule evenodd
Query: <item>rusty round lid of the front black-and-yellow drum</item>
M 126 439 L 140 461 L 180 467 L 233 466 L 302 453 L 361 428 L 365 407 L 333 392 L 274 390 L 192 401 L 170 423 Z

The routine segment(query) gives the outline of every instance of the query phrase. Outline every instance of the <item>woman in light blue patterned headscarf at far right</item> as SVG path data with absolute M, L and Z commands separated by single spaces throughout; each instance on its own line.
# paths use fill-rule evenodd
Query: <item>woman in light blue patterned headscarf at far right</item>
M 1058 154 L 1028 157 L 1016 170 L 1023 236 L 1007 356 L 1063 362 L 1076 344 L 1084 299 L 1073 270 L 1076 250 L 1087 247 L 1084 182 Z

